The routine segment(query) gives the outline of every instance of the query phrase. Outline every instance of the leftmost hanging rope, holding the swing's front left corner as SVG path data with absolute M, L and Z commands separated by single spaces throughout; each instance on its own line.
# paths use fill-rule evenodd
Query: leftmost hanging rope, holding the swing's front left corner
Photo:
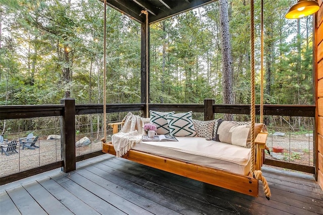
M 103 134 L 101 138 L 103 143 L 106 142 L 106 0 L 104 0 L 104 26 L 103 26 Z

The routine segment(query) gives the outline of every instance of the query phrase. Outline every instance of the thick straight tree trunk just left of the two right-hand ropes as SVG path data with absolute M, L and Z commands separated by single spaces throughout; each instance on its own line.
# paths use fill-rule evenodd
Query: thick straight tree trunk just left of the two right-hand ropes
M 222 89 L 223 103 L 232 104 L 232 57 L 231 42 L 229 32 L 229 12 L 228 2 L 220 0 L 220 20 L 221 20 L 221 36 L 222 36 Z M 226 120 L 233 120 L 231 114 L 225 116 Z

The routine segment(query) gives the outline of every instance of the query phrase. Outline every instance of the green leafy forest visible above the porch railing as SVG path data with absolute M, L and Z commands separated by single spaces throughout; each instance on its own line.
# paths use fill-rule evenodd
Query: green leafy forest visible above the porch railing
M 151 103 L 226 103 L 221 2 L 150 25 Z M 230 95 L 249 104 L 250 3 L 227 2 Z M 312 17 L 287 20 L 293 2 L 264 1 L 266 104 L 313 104 Z M 0 0 L 0 105 L 102 104 L 103 8 L 98 0 Z M 140 103 L 140 24 L 107 7 L 106 38 L 106 102 Z M 259 95 L 259 0 L 255 50 Z

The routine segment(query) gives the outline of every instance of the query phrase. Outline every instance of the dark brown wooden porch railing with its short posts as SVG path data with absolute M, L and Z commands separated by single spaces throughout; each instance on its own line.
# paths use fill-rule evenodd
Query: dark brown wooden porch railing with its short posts
M 259 114 L 259 106 L 256 105 L 256 114 Z M 149 104 L 149 110 L 158 111 L 190 111 L 204 113 L 204 120 L 213 119 L 214 114 L 250 114 L 250 105 L 218 105 L 214 100 L 205 99 L 204 104 Z M 128 111 L 142 111 L 145 116 L 145 104 L 107 104 L 107 113 Z M 62 161 L 46 164 L 23 172 L 15 173 L 0 178 L 0 185 L 15 180 L 26 178 L 41 172 L 62 167 L 64 172 L 73 171 L 76 162 L 102 155 L 102 152 L 94 152 L 76 157 L 75 153 L 75 115 L 103 113 L 103 105 L 75 105 L 74 99 L 62 99 L 61 105 L 24 105 L 24 106 L 0 106 L 0 120 L 22 119 L 33 117 L 61 116 L 61 151 Z M 314 105 L 264 105 L 264 115 L 277 116 L 315 116 Z M 267 162 L 267 163 L 266 163 Z M 283 168 L 314 173 L 314 167 L 290 164 L 287 162 L 265 161 L 264 164 L 275 165 Z

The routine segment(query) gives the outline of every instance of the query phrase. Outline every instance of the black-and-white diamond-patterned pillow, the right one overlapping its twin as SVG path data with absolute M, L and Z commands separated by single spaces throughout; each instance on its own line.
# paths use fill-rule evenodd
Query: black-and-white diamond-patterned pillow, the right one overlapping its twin
M 192 121 L 192 111 L 176 113 L 167 116 L 170 134 L 173 136 L 195 136 L 196 131 Z

